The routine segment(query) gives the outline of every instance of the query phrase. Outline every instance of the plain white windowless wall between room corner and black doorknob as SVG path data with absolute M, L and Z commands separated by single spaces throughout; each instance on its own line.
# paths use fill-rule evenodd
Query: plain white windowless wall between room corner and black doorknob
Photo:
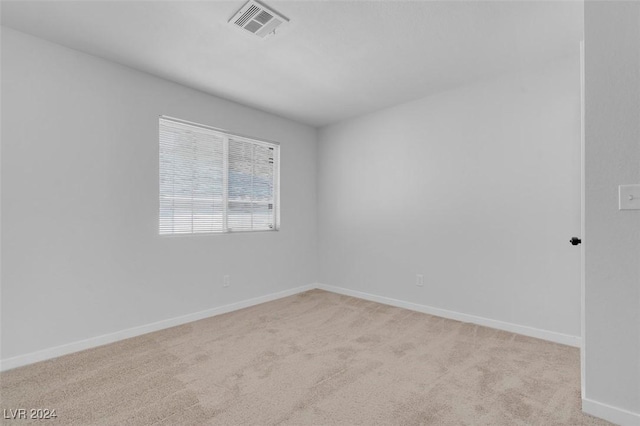
M 321 129 L 320 282 L 579 336 L 578 53 Z

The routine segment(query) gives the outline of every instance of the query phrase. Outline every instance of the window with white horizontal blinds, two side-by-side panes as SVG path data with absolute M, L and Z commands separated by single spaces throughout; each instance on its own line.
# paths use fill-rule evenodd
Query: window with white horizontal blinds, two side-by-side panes
M 277 230 L 280 146 L 160 118 L 160 235 Z

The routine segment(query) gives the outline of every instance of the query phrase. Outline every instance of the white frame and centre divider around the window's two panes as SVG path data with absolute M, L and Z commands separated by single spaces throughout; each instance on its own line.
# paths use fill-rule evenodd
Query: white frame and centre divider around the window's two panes
M 187 126 L 194 126 L 206 129 L 208 131 L 212 131 L 218 133 L 218 135 L 222 138 L 223 142 L 223 206 L 224 210 L 223 221 L 222 221 L 222 231 L 210 231 L 210 232 L 171 232 L 171 233 L 161 233 L 160 232 L 160 186 L 158 181 L 158 226 L 157 232 L 160 237 L 184 237 L 184 236 L 203 236 L 203 235 L 225 235 L 225 234 L 244 234 L 251 232 L 274 232 L 280 230 L 280 142 L 272 141 L 264 138 L 255 138 L 252 136 L 247 136 L 243 134 L 239 134 L 236 132 L 231 132 L 229 130 L 221 129 L 218 127 L 209 126 L 206 124 L 195 123 L 192 121 L 183 120 L 180 118 L 170 117 L 167 115 L 160 115 L 158 117 L 158 143 L 160 141 L 160 126 L 162 124 L 162 120 L 174 122 L 177 124 L 184 124 Z M 228 216 L 229 216 L 229 139 L 235 139 L 243 142 L 248 142 L 252 144 L 262 145 L 268 148 L 274 148 L 274 170 L 273 170 L 273 229 L 236 229 L 232 230 L 229 228 Z M 158 151 L 158 178 L 161 176 L 161 159 L 160 159 L 160 151 Z

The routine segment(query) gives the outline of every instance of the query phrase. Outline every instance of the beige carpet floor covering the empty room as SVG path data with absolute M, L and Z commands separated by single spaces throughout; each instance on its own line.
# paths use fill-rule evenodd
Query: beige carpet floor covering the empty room
M 10 370 L 0 391 L 60 425 L 608 424 L 580 411 L 575 348 L 320 290 Z

